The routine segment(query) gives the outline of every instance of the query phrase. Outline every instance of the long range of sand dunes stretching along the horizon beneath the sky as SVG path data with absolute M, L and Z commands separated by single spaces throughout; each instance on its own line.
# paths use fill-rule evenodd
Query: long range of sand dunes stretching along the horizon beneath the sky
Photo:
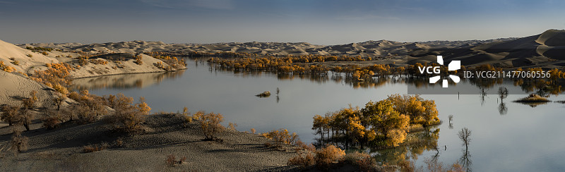
M 73 47 L 73 45 L 75 45 Z M 108 42 L 103 44 L 21 44 L 20 47 L 52 47 L 89 53 L 143 53 L 163 51 L 175 54 L 244 52 L 266 55 L 335 55 L 335 56 L 412 56 L 408 63 L 434 61 L 443 54 L 447 62 L 462 60 L 468 66 L 492 63 L 501 67 L 555 66 L 564 63 L 565 31 L 547 30 L 540 35 L 467 41 L 394 42 L 389 40 L 338 45 L 315 45 L 307 42 L 229 42 L 215 44 L 165 44 L 163 42 Z

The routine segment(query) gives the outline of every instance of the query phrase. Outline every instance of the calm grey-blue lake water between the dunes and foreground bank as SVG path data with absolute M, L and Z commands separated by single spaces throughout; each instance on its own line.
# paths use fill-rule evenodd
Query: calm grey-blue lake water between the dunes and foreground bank
M 336 111 L 351 104 L 364 106 L 369 100 L 379 101 L 388 94 L 406 94 L 403 82 L 379 82 L 371 85 L 351 85 L 346 80 L 327 78 L 286 78 L 272 73 L 234 73 L 213 70 L 203 63 L 189 63 L 188 70 L 177 73 L 150 73 L 116 75 L 102 78 L 75 80 L 81 87 L 98 95 L 123 92 L 131 97 L 145 97 L 153 112 L 199 110 L 222 113 L 225 123 L 237 123 L 237 130 L 256 128 L 267 132 L 287 128 L 299 134 L 302 140 L 314 142 L 312 117 Z M 459 85 L 470 85 L 467 82 Z M 364 87 L 367 86 L 367 87 Z M 509 90 L 521 90 L 504 85 Z M 277 98 L 275 92 L 280 88 Z M 451 87 L 451 86 L 450 86 Z M 498 86 L 494 87 L 498 88 Z M 492 88 L 491 90 L 494 90 Z M 423 89 L 423 88 L 422 88 Z M 477 87 L 470 87 L 476 89 Z M 263 91 L 273 93 L 259 98 Z M 423 165 L 426 158 L 436 156 L 439 161 L 453 164 L 463 153 L 457 136 L 461 128 L 469 128 L 469 154 L 473 171 L 564 171 L 565 170 L 565 105 L 558 103 L 531 107 L 511 102 L 524 95 L 511 94 L 504 100 L 506 113 L 501 115 L 496 95 L 481 97 L 477 94 L 422 95 L 434 99 L 439 118 L 439 139 L 436 150 L 431 147 L 403 154 Z M 563 96 L 552 96 L 563 100 Z M 453 115 L 452 128 L 448 115 Z M 402 148 L 387 150 L 401 152 Z M 383 152 L 374 152 L 376 156 Z

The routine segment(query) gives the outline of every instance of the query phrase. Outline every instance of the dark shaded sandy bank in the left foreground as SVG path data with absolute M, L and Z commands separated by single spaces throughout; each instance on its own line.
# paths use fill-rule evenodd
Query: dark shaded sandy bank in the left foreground
M 202 141 L 196 123 L 184 128 L 176 115 L 152 115 L 145 133 L 127 136 L 114 133 L 103 122 L 43 128 L 25 132 L 30 137 L 28 152 L 14 156 L 8 147 L 11 134 L 0 128 L 2 171 L 286 171 L 295 152 L 264 146 L 266 138 L 227 131 L 223 142 Z M 117 144 L 121 138 L 123 143 Z M 83 153 L 85 145 L 108 145 L 99 152 Z M 166 166 L 167 155 L 186 156 L 178 166 Z

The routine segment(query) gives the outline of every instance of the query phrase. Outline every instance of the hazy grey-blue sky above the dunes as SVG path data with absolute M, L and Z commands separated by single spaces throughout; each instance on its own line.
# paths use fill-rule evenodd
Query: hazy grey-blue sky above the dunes
M 496 39 L 564 29 L 560 0 L 0 0 L 0 39 L 102 43 Z

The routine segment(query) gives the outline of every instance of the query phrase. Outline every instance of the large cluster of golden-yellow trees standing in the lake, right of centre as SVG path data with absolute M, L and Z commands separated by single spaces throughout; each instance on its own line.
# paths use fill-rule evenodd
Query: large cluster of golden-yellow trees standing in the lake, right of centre
M 345 147 L 396 147 L 408 133 L 440 124 L 437 116 L 433 100 L 393 94 L 379 102 L 368 102 L 362 109 L 350 106 L 316 115 L 312 130 L 324 142 L 340 142 Z

